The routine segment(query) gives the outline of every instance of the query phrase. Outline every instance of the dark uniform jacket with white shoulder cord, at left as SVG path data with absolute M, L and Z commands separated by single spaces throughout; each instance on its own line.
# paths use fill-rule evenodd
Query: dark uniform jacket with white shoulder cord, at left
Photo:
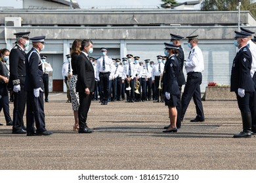
M 26 82 L 25 89 L 33 92 L 33 89 L 43 90 L 43 67 L 39 52 L 32 48 L 26 56 Z

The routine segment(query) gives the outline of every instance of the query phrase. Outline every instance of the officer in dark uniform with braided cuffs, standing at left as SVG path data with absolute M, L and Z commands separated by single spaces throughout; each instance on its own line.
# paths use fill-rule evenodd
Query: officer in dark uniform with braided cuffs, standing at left
M 12 133 L 26 133 L 23 115 L 26 107 L 27 93 L 25 91 L 26 67 L 25 59 L 28 46 L 30 44 L 30 32 L 14 33 L 17 44 L 10 52 L 10 80 L 8 83 L 9 90 L 13 90 L 14 109 L 13 109 L 13 126 Z

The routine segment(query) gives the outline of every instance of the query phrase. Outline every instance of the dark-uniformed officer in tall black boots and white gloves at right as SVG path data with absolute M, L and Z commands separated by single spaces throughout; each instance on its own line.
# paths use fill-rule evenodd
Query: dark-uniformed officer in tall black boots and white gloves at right
M 243 131 L 234 135 L 234 138 L 251 137 L 251 108 L 255 105 L 253 97 L 255 95 L 255 84 L 251 78 L 251 51 L 247 44 L 247 33 L 235 31 L 234 44 L 238 47 L 238 52 L 234 58 L 230 91 L 236 93 L 238 107 L 242 115 Z

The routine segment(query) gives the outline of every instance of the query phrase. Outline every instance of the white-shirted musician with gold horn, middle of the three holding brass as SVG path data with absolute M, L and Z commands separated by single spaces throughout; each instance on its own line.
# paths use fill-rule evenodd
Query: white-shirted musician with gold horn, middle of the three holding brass
M 140 66 L 140 63 L 139 63 L 139 59 L 140 57 L 139 56 L 135 56 L 133 57 L 134 58 L 134 63 L 135 63 L 135 70 L 137 70 L 137 75 L 135 77 L 135 86 L 136 86 L 136 81 L 139 81 L 137 84 L 139 86 L 139 93 L 135 93 L 135 102 L 140 102 L 141 101 L 141 76 L 142 76 L 142 67 Z

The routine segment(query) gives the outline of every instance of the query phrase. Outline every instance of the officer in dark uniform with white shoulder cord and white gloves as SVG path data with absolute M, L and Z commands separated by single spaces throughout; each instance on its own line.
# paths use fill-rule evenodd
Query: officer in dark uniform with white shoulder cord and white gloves
M 45 112 L 43 107 L 43 62 L 40 52 L 45 48 L 45 36 L 30 39 L 32 50 L 26 56 L 26 91 L 27 100 L 27 136 L 51 135 L 53 132 L 45 129 Z M 36 126 L 36 130 L 34 127 Z

